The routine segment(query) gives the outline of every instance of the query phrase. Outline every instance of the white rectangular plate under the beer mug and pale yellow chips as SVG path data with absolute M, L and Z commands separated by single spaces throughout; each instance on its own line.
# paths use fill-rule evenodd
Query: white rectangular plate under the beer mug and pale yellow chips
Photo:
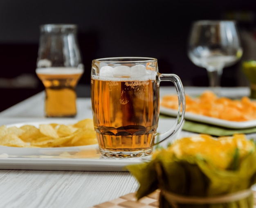
M 73 124 L 77 120 L 49 119 L 40 122 L 23 122 L 7 125 L 20 127 L 42 123 Z M 173 119 L 159 119 L 159 126 L 166 130 Z M 180 128 L 181 131 L 181 128 Z M 179 132 L 180 132 L 179 131 Z M 179 134 L 175 134 L 177 137 Z M 127 171 L 125 166 L 150 159 L 105 158 L 99 154 L 98 145 L 79 147 L 24 148 L 0 146 L 0 169 L 61 170 L 61 171 Z

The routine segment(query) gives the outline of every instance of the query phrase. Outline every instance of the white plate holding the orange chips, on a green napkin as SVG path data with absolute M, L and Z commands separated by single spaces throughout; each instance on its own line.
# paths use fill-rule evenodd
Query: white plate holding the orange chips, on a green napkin
M 168 116 L 177 116 L 177 110 L 173 110 L 173 109 L 162 107 L 162 106 L 160 106 L 160 113 Z M 185 112 L 185 119 L 193 120 L 201 123 L 212 124 L 220 127 L 227 127 L 231 129 L 245 129 L 250 127 L 256 127 L 256 120 L 235 122 L 235 121 L 223 120 L 219 118 L 212 118 L 209 116 L 192 114 L 189 112 Z

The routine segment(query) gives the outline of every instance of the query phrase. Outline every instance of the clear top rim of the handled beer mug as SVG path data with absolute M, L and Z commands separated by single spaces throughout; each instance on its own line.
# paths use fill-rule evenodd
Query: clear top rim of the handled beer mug
M 134 63 L 134 62 L 146 63 L 150 61 L 151 62 L 157 61 L 157 59 L 151 58 L 151 57 L 127 56 L 127 57 L 106 57 L 106 58 L 99 58 L 99 59 L 92 60 L 92 62 L 97 62 L 97 63 Z

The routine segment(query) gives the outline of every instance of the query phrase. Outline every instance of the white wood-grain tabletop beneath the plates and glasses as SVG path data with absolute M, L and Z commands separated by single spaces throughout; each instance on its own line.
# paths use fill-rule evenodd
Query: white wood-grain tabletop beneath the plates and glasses
M 160 89 L 161 95 L 175 92 L 174 88 Z M 206 89 L 185 87 L 185 92 L 200 94 Z M 222 88 L 222 94 L 239 97 L 248 95 L 249 89 Z M 43 106 L 44 92 L 40 92 L 0 112 L 0 125 L 47 121 Z M 90 98 L 78 98 L 77 108 L 74 119 L 92 118 Z M 135 192 L 137 188 L 135 178 L 124 171 L 43 171 L 13 167 L 5 170 L 0 167 L 0 207 L 4 208 L 90 208 Z

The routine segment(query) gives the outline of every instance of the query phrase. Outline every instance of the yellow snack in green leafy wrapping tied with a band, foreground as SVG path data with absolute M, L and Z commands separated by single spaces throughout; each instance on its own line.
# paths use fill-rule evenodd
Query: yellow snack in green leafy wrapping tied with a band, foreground
M 160 189 L 161 208 L 252 208 L 255 160 L 255 142 L 244 134 L 199 134 L 175 140 L 155 151 L 152 160 L 126 168 L 139 184 L 137 199 Z M 233 195 L 247 190 L 239 199 Z

